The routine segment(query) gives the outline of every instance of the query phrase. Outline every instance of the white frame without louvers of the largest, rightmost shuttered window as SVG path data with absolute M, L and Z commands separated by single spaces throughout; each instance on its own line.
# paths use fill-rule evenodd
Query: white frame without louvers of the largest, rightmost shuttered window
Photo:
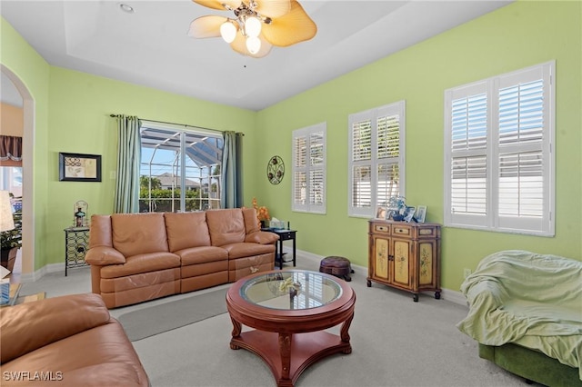
M 550 61 L 540 65 L 533 65 L 524 69 L 520 69 L 511 73 L 501 74 L 478 81 L 472 84 L 465 84 L 457 86 L 445 91 L 445 203 L 444 203 L 444 223 L 446 226 L 459 227 L 467 229 L 487 230 L 502 233 L 525 233 L 539 236 L 554 236 L 555 234 L 555 123 L 556 123 L 556 80 L 555 80 L 556 62 Z M 541 114 L 543 115 L 543 124 L 541 126 L 541 134 L 538 135 L 539 140 L 536 142 L 516 141 L 503 144 L 499 137 L 500 131 L 500 91 L 507 90 L 507 88 L 522 88 L 526 84 L 532 82 L 539 82 L 542 84 L 541 92 Z M 452 123 L 452 109 L 453 102 L 459 99 L 468 98 L 477 94 L 485 94 L 487 96 L 487 123 L 484 124 L 487 131 L 486 143 L 479 143 L 483 145 L 481 148 L 473 145 L 467 146 L 466 149 L 453 149 L 453 123 Z M 519 104 L 519 102 L 517 102 Z M 522 105 L 520 105 L 522 106 Z M 521 114 L 521 110 L 520 113 Z M 519 125 L 519 131 L 521 125 Z M 467 134 L 468 135 L 468 134 Z M 468 135 L 470 137 L 470 135 Z M 468 141 L 467 141 L 468 143 Z M 503 170 L 504 164 L 501 161 L 502 154 L 533 154 L 537 153 L 536 162 L 541 164 L 538 166 L 537 176 L 543 184 L 537 188 L 536 193 L 541 196 L 536 196 L 537 200 L 537 214 L 522 214 L 518 213 L 518 206 L 523 206 L 527 200 L 522 200 L 521 196 L 517 194 L 517 204 L 510 204 L 514 208 L 511 211 L 514 214 L 502 213 L 500 208 L 503 206 L 501 193 L 502 177 L 500 171 Z M 453 208 L 453 177 L 452 166 L 453 159 L 462 159 L 464 157 L 476 157 L 484 164 L 479 170 L 479 174 L 484 177 L 481 182 L 481 193 L 485 196 L 479 197 L 483 199 L 483 203 L 479 205 L 479 210 L 468 211 L 468 205 L 465 209 L 460 211 Z M 540 161 L 541 160 L 541 161 Z M 474 164 L 475 165 L 475 164 Z M 507 164 L 505 165 L 507 168 Z M 477 168 L 475 169 L 477 171 Z M 519 170 L 518 170 L 519 171 Z M 525 179 L 524 179 L 525 180 Z M 507 181 L 507 178 L 506 178 Z M 469 182 L 466 181 L 468 184 Z M 478 182 L 477 182 L 478 183 Z M 513 184 L 521 184 L 521 177 Z M 467 198 L 470 193 L 477 193 L 475 190 L 467 190 Z M 513 193 L 512 193 L 513 194 Z M 475 197 L 475 196 L 474 196 Z M 507 195 L 506 195 L 507 197 Z M 472 201 L 467 200 L 467 203 Z M 474 201 L 472 203 L 475 203 Z M 476 207 L 473 207 L 476 208 Z M 507 203 L 506 207 L 507 209 Z

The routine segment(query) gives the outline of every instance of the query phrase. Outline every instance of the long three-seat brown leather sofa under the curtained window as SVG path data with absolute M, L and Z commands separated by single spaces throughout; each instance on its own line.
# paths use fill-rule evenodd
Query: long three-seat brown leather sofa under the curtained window
M 93 215 L 85 262 L 93 293 L 115 308 L 273 270 L 277 240 L 254 208 Z

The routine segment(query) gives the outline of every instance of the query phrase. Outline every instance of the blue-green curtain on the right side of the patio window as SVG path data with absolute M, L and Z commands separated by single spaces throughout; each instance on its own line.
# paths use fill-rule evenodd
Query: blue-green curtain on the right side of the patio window
M 243 205 L 242 133 L 225 132 L 222 151 L 222 208 L 239 208 Z

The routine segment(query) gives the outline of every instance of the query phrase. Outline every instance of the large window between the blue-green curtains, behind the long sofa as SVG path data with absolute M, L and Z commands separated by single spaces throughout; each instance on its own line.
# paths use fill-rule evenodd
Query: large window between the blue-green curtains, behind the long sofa
M 222 134 L 142 121 L 140 212 L 220 208 Z

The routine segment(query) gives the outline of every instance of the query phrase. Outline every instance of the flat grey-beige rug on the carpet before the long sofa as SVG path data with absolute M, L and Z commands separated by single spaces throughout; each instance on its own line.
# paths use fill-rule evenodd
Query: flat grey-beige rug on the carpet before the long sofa
M 120 314 L 117 320 L 123 325 L 129 340 L 135 342 L 226 313 L 227 290 L 192 293 L 192 296 L 180 300 Z

